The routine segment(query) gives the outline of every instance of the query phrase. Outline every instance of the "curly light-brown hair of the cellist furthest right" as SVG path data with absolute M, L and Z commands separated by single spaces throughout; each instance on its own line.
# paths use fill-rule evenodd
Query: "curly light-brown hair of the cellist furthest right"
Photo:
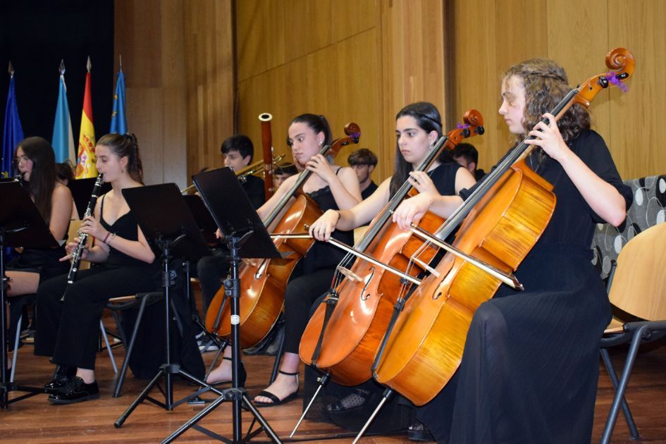
M 530 58 L 517 63 L 504 73 L 502 82 L 514 75 L 522 80 L 525 88 L 524 134 L 517 135 L 519 143 L 541 121 L 543 113 L 552 111 L 572 88 L 564 68 L 548 58 Z M 581 130 L 590 128 L 590 116 L 584 106 L 574 104 L 557 121 L 557 126 L 562 139 L 569 144 Z

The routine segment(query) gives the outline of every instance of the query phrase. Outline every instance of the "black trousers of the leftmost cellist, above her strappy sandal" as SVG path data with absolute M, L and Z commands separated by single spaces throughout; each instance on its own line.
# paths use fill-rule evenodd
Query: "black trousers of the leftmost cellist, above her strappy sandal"
M 295 273 L 299 271 L 297 267 Z M 319 269 L 292 278 L 285 291 L 285 352 L 298 353 L 312 304 L 331 288 L 335 269 Z

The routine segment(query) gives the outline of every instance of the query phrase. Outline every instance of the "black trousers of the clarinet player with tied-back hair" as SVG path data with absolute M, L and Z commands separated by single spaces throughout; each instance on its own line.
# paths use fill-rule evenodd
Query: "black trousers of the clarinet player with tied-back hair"
M 35 354 L 53 357 L 61 366 L 94 369 L 99 319 L 111 297 L 159 288 L 154 269 L 136 266 L 99 266 L 79 271 L 68 290 L 67 276 L 58 276 L 37 290 Z

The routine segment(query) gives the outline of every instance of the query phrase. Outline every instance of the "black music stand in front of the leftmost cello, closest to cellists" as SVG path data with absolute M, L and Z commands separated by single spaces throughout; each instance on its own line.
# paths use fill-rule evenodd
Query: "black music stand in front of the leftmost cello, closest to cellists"
M 247 398 L 245 388 L 238 384 L 240 369 L 240 279 L 238 278 L 238 266 L 243 257 L 259 259 L 279 259 L 280 252 L 275 247 L 271 236 L 266 231 L 264 223 L 261 222 L 259 214 L 250 204 L 247 195 L 243 192 L 238 178 L 230 168 L 200 173 L 192 178 L 197 190 L 202 195 L 204 203 L 208 207 L 215 223 L 224 235 L 224 239 L 231 252 L 231 277 L 224 281 L 225 293 L 231 300 L 231 388 L 222 390 L 223 394 L 211 402 L 209 406 L 202 409 L 189 421 L 180 426 L 165 438 L 162 443 L 171 443 L 188 428 L 194 427 L 211 438 L 226 443 L 247 442 L 252 437 L 261 433 L 261 430 L 275 443 L 281 443 L 280 438 L 273 431 L 264 417 L 261 416 L 257 407 Z M 221 192 L 223 190 L 223 192 Z M 222 308 L 221 308 L 222 309 Z M 197 425 L 200 419 L 206 417 L 218 405 L 225 401 L 233 402 L 233 440 L 224 438 L 206 428 Z M 241 407 L 249 410 L 254 416 L 249 431 L 245 437 L 241 436 Z M 261 428 L 252 431 L 255 421 L 259 421 Z

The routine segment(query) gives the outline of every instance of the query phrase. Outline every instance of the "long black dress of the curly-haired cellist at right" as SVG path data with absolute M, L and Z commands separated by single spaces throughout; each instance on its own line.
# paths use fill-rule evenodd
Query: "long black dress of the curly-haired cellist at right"
M 608 147 L 592 130 L 570 148 L 624 197 Z M 419 419 L 441 443 L 589 443 L 599 340 L 610 321 L 608 295 L 591 264 L 596 223 L 562 166 L 528 164 L 554 185 L 548 227 L 516 272 L 523 292 L 502 286 L 471 321 L 457 373 Z M 461 193 L 463 194 L 463 193 Z

